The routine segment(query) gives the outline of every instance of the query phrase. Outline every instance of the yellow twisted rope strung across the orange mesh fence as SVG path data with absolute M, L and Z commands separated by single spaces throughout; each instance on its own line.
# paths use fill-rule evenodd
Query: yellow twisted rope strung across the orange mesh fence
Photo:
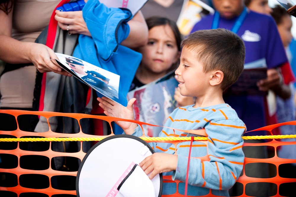
M 100 141 L 105 137 L 36 137 L 36 138 L 0 138 L 0 142 L 64 142 L 64 141 Z M 144 141 L 190 141 L 191 137 L 140 137 Z M 244 140 L 286 139 L 296 135 L 256 135 L 243 136 Z M 195 141 L 207 140 L 207 137 L 194 137 Z

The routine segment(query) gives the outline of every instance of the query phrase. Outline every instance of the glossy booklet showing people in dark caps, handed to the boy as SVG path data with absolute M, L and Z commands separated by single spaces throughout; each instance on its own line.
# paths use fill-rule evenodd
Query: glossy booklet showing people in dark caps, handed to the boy
M 53 61 L 62 69 L 102 95 L 120 103 L 118 97 L 119 75 L 70 55 L 61 53 L 56 53 L 56 55 L 59 60 Z

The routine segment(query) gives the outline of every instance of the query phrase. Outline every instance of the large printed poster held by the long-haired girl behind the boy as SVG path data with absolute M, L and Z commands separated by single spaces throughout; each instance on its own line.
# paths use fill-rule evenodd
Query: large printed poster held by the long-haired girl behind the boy
M 171 71 L 160 79 L 128 92 L 127 98 L 136 98 L 133 104 L 135 120 L 158 126 L 143 125 L 144 133 L 149 137 L 158 137 L 170 113 L 176 108 L 174 100 L 178 81 Z

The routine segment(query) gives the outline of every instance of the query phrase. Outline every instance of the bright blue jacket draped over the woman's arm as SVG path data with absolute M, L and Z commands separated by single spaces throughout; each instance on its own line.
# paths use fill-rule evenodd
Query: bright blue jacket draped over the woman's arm
M 81 34 L 73 56 L 120 75 L 119 103 L 126 106 L 127 92 L 142 59 L 141 53 L 120 45 L 130 31 L 131 11 L 89 0 L 82 13 L 92 37 Z

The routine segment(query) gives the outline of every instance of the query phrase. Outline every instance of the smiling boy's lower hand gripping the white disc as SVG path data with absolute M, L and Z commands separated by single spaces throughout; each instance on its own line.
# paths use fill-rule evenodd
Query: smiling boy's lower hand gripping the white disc
M 153 153 L 140 163 L 140 167 L 152 180 L 157 174 L 177 169 L 178 156 L 168 153 Z

